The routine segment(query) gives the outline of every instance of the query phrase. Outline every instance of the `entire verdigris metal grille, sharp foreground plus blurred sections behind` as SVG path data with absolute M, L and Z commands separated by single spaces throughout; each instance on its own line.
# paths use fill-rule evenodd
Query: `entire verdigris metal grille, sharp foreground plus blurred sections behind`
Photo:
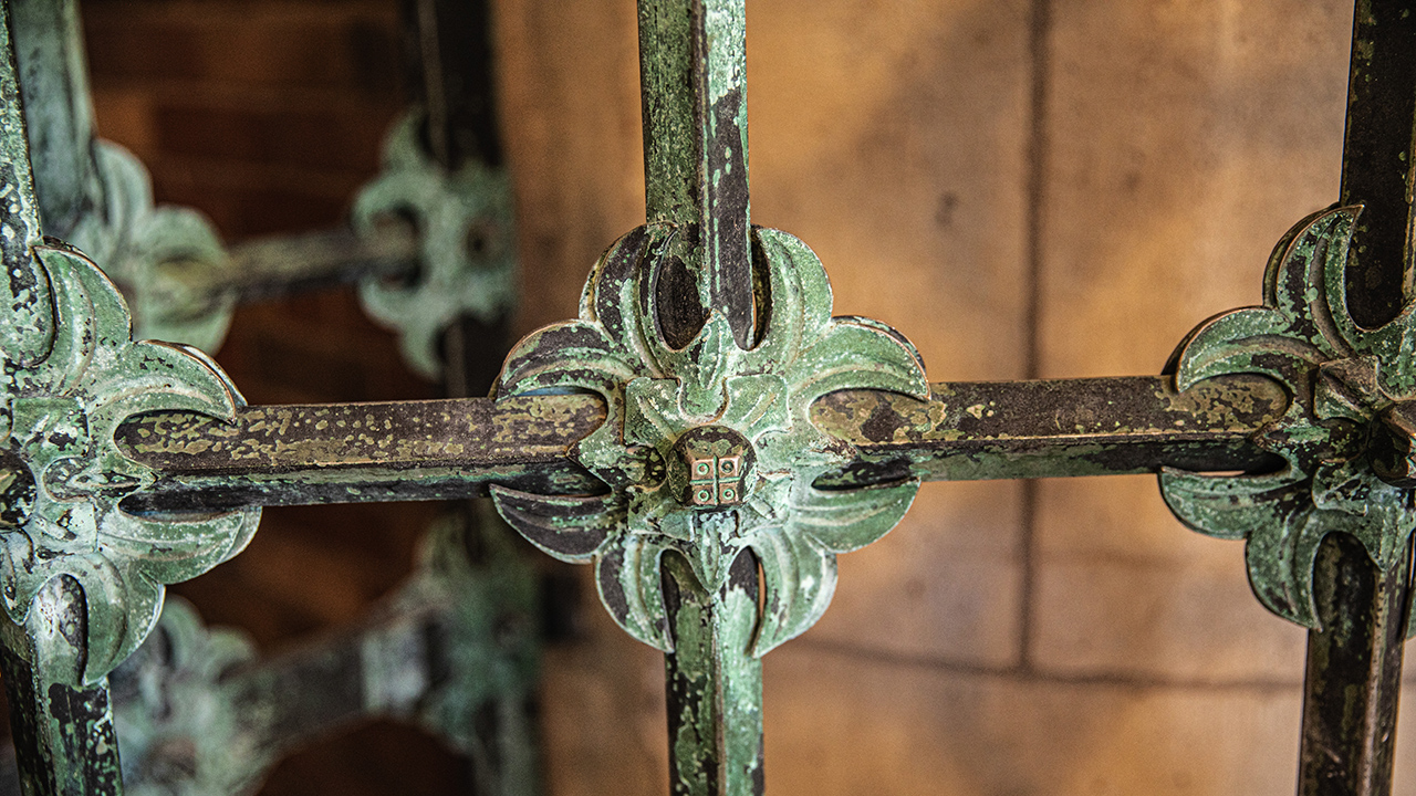
M 837 555 L 925 480 L 1109 473 L 1158 473 L 1187 525 L 1246 540 L 1256 596 L 1310 629 L 1298 793 L 1391 792 L 1416 527 L 1408 4 L 1357 3 L 1341 191 L 1277 242 L 1263 306 L 1201 323 L 1160 375 L 1021 382 L 930 382 L 905 334 L 831 316 L 807 244 L 752 225 L 743 0 L 639 0 L 646 224 L 595 263 L 579 317 L 507 348 L 493 103 L 446 91 L 490 92 L 486 11 L 463 41 L 450 6 L 421 4 L 425 96 L 354 229 L 231 252 L 93 143 L 74 3 L 6 6 L 0 667 L 25 793 L 120 793 L 119 749 L 164 732 L 212 739 L 188 792 L 244 792 L 350 715 L 241 705 L 331 669 L 365 683 L 351 714 L 496 748 L 487 792 L 534 792 L 535 643 L 501 622 L 528 581 L 477 504 L 429 534 L 381 613 L 303 657 L 258 661 L 161 610 L 166 584 L 239 554 L 263 506 L 473 497 L 592 565 L 610 616 L 663 650 L 670 790 L 762 793 L 763 657 L 827 609 Z M 447 398 L 249 406 L 198 350 L 242 297 L 348 279 Z M 466 354 L 479 341 L 493 367 Z M 110 683 L 133 677 L 207 700 L 219 727 L 135 711 L 125 737 Z M 472 721 L 487 704 L 496 738 Z

